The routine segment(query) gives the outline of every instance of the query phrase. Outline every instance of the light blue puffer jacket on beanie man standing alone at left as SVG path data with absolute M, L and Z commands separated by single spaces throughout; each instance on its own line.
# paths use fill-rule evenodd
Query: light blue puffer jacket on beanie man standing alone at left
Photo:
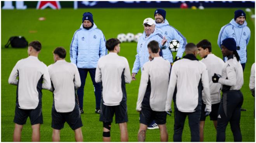
M 70 61 L 78 68 L 96 68 L 99 58 L 106 54 L 105 37 L 95 24 L 89 30 L 76 30 L 70 44 Z

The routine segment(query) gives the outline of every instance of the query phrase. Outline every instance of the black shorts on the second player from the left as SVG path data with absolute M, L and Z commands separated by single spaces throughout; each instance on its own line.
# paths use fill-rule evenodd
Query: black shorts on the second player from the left
M 83 126 L 78 106 L 75 106 L 73 111 L 67 113 L 59 113 L 54 106 L 52 107 L 52 128 L 61 130 L 64 128 L 65 122 L 69 124 L 72 130 Z

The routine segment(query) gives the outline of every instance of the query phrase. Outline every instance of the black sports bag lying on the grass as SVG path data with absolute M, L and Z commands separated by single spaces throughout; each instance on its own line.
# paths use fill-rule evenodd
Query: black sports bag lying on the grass
M 5 48 L 8 48 L 11 45 L 14 48 L 24 48 L 28 46 L 28 41 L 23 36 L 13 36 L 10 37 L 7 44 L 5 44 Z

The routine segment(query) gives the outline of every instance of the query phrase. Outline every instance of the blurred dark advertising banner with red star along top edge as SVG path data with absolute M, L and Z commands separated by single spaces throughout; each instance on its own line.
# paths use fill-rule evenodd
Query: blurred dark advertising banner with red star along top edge
M 2 1 L 2 9 L 255 7 L 254 1 Z

